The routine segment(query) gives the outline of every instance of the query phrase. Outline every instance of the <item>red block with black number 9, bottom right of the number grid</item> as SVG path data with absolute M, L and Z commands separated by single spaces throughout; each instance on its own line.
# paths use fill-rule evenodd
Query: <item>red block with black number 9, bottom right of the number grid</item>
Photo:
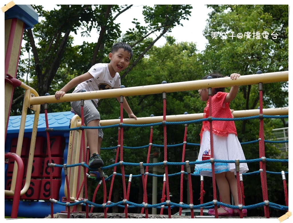
M 51 190 L 50 190 L 50 179 L 43 179 L 41 192 L 40 192 L 40 199 L 42 200 L 49 200 L 51 197 Z M 59 190 L 61 187 L 61 180 L 53 180 L 53 198 L 59 200 Z

